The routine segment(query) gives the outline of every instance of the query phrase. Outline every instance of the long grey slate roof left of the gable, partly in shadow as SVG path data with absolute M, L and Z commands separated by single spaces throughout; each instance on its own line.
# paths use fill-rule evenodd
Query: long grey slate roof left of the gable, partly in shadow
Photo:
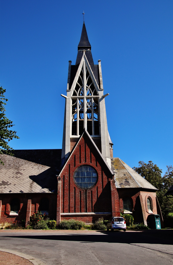
M 61 149 L 15 150 L 0 155 L 0 193 L 57 192 Z

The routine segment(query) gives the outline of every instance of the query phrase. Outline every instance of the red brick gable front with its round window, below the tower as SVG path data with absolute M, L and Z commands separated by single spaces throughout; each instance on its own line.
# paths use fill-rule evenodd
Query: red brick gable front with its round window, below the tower
M 96 175 L 88 180 L 89 175 L 76 175 L 79 171 L 95 171 Z M 112 212 L 112 176 L 110 167 L 84 130 L 59 174 L 62 213 Z

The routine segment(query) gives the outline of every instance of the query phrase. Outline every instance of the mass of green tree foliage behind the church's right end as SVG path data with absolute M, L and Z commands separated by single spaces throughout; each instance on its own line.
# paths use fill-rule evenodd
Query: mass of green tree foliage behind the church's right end
M 156 195 L 163 219 L 166 221 L 168 213 L 173 212 L 173 198 L 165 197 L 165 193 L 173 185 L 173 167 L 167 166 L 167 171 L 163 177 L 161 176 L 162 170 L 152 161 L 148 161 L 148 164 L 139 161 L 139 166 L 133 167 L 133 169 L 158 189 Z

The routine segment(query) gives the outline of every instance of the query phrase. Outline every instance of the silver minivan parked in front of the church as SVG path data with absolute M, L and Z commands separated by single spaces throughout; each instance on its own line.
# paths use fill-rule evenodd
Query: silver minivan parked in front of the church
M 113 230 L 123 230 L 126 231 L 126 222 L 123 217 L 111 217 L 109 222 L 107 223 L 107 231 L 111 229 Z

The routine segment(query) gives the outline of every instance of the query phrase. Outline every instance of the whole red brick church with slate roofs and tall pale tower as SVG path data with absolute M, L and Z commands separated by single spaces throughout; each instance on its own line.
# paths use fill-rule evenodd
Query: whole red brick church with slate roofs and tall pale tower
M 65 90 L 62 91 L 65 93 Z M 108 133 L 101 60 L 94 64 L 83 23 L 76 63 L 69 61 L 62 149 L 15 150 L 1 155 L 0 223 L 26 220 L 42 211 L 58 223 L 91 224 L 120 213 L 147 225 L 163 219 L 157 189 L 119 157 Z

